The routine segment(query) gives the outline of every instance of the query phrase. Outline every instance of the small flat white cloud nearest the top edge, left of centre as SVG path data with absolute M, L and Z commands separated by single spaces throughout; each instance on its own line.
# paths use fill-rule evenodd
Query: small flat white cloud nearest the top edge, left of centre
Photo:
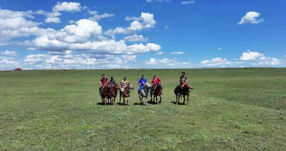
M 57 2 L 57 4 L 54 6 L 53 11 L 80 11 L 81 6 L 79 2 Z

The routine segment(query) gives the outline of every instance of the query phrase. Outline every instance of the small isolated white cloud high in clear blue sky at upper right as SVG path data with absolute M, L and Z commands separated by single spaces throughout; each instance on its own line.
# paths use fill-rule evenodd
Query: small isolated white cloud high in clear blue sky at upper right
M 258 17 L 260 16 L 259 12 L 256 11 L 249 11 L 246 13 L 245 16 L 243 16 L 240 20 L 240 22 L 238 22 L 237 24 L 244 24 L 244 23 L 251 23 L 251 24 L 258 24 L 258 23 L 262 23 L 264 21 L 264 19 L 258 19 Z

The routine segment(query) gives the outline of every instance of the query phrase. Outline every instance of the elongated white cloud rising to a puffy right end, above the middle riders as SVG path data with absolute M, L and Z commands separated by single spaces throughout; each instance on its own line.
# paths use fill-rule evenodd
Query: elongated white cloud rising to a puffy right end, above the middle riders
M 143 29 L 153 28 L 156 24 L 154 20 L 154 15 L 148 12 L 141 13 L 142 21 L 135 20 L 133 21 L 129 27 L 116 27 L 115 29 L 109 29 L 104 32 L 104 35 L 116 35 L 116 34 L 130 34 L 136 31 L 141 31 Z

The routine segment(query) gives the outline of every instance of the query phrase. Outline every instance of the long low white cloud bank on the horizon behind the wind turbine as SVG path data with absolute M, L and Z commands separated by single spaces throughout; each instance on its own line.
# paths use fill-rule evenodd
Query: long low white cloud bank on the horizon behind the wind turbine
M 87 56 L 89 59 L 87 60 Z M 28 55 L 23 66 L 34 65 L 37 69 L 50 69 L 52 65 L 58 69 L 78 68 L 86 69 L 87 64 L 95 69 L 122 68 L 136 61 L 137 55 L 75 55 L 70 51 L 64 53 L 48 53 Z

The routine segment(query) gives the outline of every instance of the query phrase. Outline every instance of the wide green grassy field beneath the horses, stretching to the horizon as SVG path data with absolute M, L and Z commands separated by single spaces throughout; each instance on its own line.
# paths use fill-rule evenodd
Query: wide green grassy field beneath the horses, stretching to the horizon
M 173 90 L 185 71 L 189 105 Z M 163 82 L 161 104 L 98 104 L 101 74 Z M 119 99 L 117 99 L 117 102 Z M 286 151 L 286 69 L 0 72 L 0 151 Z

